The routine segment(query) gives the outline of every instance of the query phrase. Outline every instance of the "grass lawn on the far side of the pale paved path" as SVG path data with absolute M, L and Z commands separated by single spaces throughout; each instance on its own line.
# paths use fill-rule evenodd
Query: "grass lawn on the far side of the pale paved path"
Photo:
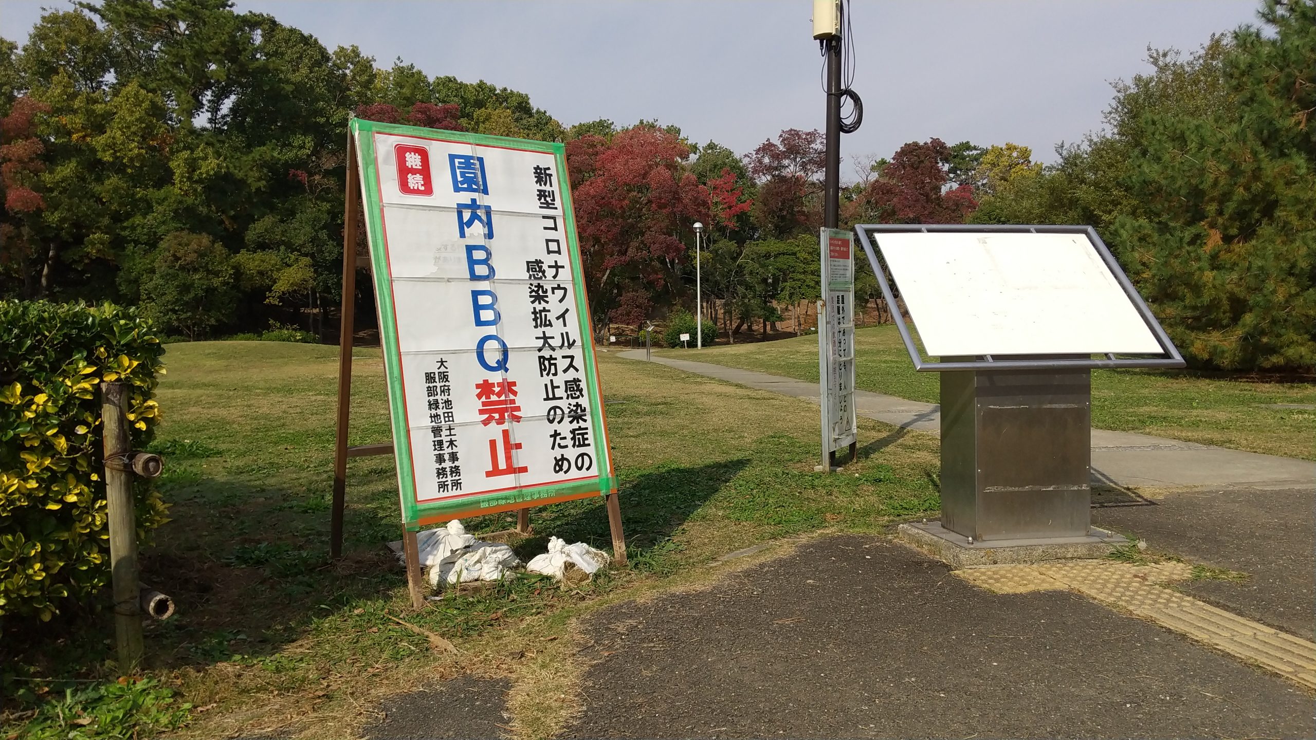
M 895 325 L 855 330 L 855 384 L 938 402 L 936 373 L 915 373 Z M 817 336 L 762 344 L 662 350 L 663 356 L 817 382 Z M 1188 371 L 1094 370 L 1092 425 L 1191 442 L 1316 460 L 1316 383 L 1257 382 Z

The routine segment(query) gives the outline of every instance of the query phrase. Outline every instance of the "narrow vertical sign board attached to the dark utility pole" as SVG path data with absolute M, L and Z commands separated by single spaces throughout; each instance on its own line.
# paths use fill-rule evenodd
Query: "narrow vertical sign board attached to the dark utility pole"
M 821 229 L 824 311 L 819 316 L 819 390 L 822 465 L 828 453 L 855 440 L 854 411 L 854 234 Z

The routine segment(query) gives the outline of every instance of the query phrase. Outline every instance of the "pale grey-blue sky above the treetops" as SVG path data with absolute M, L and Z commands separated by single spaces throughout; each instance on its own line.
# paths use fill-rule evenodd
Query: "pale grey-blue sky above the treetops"
M 18 41 L 42 7 L 0 0 Z M 526 92 L 566 125 L 658 119 L 737 153 L 783 128 L 822 128 L 811 0 L 642 3 L 240 0 L 388 66 Z M 855 0 L 863 128 L 844 155 L 907 141 L 1013 141 L 1049 159 L 1100 126 L 1109 82 L 1146 70 L 1148 45 L 1196 49 L 1255 22 L 1254 0 Z M 848 166 L 842 169 L 848 172 Z

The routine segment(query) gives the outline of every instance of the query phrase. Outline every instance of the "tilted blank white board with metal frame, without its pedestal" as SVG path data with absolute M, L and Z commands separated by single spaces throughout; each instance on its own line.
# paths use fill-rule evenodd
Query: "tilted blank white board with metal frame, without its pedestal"
M 865 224 L 855 232 L 920 373 L 1183 367 L 1092 226 Z M 940 362 L 919 352 L 888 277 Z

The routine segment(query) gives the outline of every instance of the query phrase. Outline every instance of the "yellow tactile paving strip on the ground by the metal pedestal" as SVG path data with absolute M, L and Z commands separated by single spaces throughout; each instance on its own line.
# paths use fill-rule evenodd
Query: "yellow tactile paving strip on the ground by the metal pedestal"
M 1186 562 L 1071 560 L 965 568 L 955 575 L 998 594 L 1078 591 L 1316 689 L 1316 644 L 1166 589 L 1192 577 Z

